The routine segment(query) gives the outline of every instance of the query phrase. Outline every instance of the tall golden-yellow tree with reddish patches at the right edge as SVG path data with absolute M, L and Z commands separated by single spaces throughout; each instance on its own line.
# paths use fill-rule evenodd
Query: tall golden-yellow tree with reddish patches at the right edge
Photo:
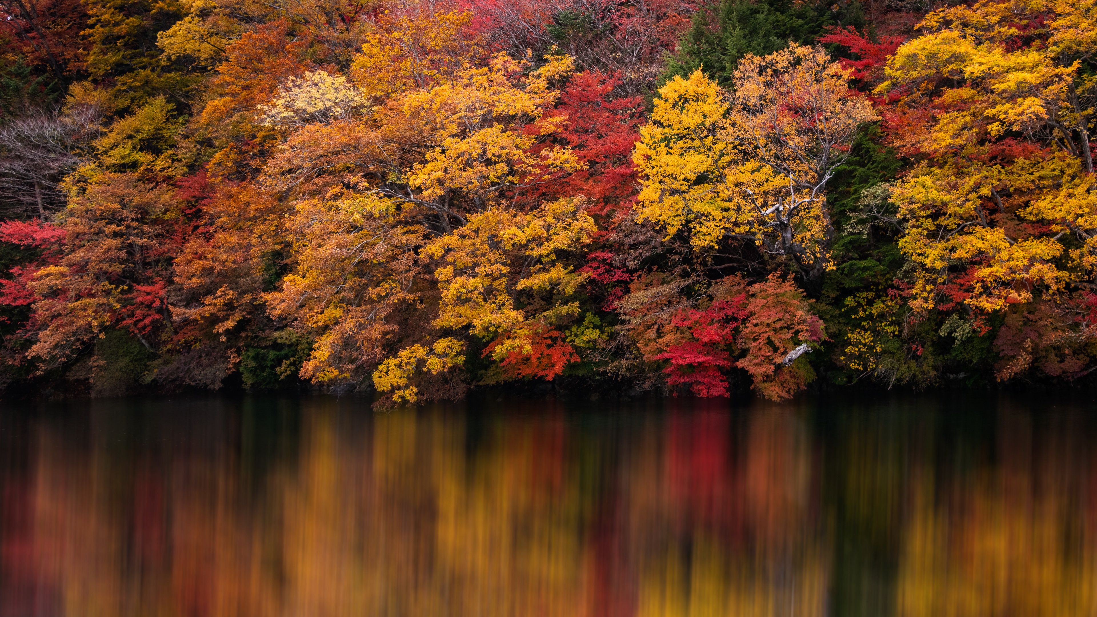
M 1087 296 L 1072 291 L 1097 274 L 1097 81 L 1083 70 L 1097 51 L 1095 5 L 983 0 L 920 29 L 879 90 L 897 99 L 895 144 L 919 161 L 892 197 L 915 266 L 912 307 L 1016 314 L 998 336 L 999 378 L 1031 364 L 1070 374 L 1092 340 Z

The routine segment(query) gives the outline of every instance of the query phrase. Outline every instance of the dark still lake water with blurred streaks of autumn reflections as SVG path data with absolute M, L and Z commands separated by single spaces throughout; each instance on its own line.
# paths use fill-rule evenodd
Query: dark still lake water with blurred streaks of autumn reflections
M 0 410 L 0 616 L 1094 616 L 1097 407 Z

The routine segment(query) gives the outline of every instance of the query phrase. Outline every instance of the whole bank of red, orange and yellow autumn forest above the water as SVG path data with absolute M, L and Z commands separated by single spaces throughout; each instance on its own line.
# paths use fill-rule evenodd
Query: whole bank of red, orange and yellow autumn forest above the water
M 1097 368 L 1095 0 L 0 0 L 0 396 Z

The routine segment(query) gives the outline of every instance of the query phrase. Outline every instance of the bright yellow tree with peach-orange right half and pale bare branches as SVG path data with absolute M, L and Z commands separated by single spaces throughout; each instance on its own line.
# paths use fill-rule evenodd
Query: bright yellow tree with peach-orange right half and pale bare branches
M 826 184 L 857 128 L 877 116 L 849 71 L 790 45 L 739 63 L 732 92 L 700 71 L 659 90 L 641 130 L 638 216 L 697 248 L 756 244 L 817 278 L 826 268 Z

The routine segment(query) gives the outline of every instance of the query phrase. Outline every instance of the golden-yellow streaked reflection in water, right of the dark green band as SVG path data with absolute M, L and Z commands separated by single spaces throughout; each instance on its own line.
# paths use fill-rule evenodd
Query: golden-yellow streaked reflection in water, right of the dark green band
M 911 482 L 900 615 L 1097 615 L 1097 444 L 1072 424 L 1038 442 L 1031 416 L 998 420 L 999 464 L 943 483 L 926 465 Z

